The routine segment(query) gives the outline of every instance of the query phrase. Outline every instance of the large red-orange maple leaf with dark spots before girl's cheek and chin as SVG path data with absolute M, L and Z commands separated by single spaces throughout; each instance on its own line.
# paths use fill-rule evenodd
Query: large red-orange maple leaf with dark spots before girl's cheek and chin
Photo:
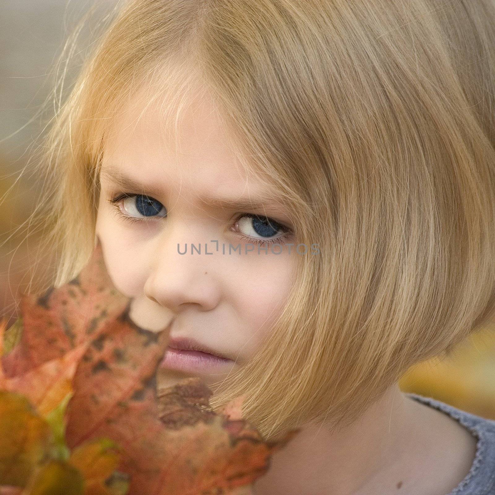
M 103 437 L 121 446 L 118 471 L 130 475 L 129 495 L 249 493 L 247 484 L 296 432 L 264 441 L 241 418 L 239 400 L 214 413 L 199 379 L 157 396 L 168 335 L 135 325 L 130 302 L 112 286 L 98 245 L 73 281 L 23 299 L 20 341 L 2 359 L 7 376 L 22 387 L 26 372 L 53 359 L 75 363 L 67 445 L 76 451 Z

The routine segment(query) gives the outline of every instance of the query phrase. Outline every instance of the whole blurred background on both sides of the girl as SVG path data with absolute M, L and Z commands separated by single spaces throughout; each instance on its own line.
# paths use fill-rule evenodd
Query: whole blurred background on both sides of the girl
M 36 275 L 32 271 L 39 255 L 36 227 L 26 230 L 25 222 L 36 205 L 39 188 L 28 160 L 53 114 L 53 105 L 43 103 L 53 89 L 54 62 L 78 21 L 95 6 L 67 67 L 66 85 L 70 87 L 84 50 L 94 41 L 95 26 L 116 3 L 0 1 L 0 315 L 10 323 L 17 317 L 19 298 Z M 401 378 L 400 387 L 495 419 L 494 329 L 484 329 L 465 341 L 449 358 L 414 366 Z

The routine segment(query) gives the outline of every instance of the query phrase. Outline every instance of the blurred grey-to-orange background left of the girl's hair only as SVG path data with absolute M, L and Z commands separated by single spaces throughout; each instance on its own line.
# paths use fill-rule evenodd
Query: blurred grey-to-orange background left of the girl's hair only
M 85 49 L 95 41 L 98 22 L 116 4 L 117 0 L 0 0 L 0 315 L 10 322 L 19 295 L 33 278 L 51 269 L 44 263 L 34 269 L 40 233 L 27 219 L 40 192 L 29 158 L 54 114 L 50 97 L 55 65 L 62 56 L 66 92 Z M 64 44 L 78 31 L 83 17 L 65 66 Z

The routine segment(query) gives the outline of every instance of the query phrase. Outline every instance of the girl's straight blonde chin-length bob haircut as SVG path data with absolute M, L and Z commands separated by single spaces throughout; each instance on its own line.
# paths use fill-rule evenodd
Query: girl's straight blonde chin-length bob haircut
M 297 242 L 320 248 L 214 408 L 244 395 L 266 438 L 341 427 L 493 321 L 493 3 L 130 0 L 103 27 L 36 150 L 53 285 L 93 251 L 104 135 L 140 87 L 173 138 L 199 81 Z

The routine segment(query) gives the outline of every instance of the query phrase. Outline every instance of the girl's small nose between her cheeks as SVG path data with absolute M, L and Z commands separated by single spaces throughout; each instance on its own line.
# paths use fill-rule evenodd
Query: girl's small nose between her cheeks
M 220 299 L 219 283 L 214 276 L 214 267 L 218 269 L 215 254 L 205 254 L 206 241 L 200 243 L 200 253 L 196 250 L 192 253 L 191 239 L 198 236 L 192 236 L 190 229 L 186 229 L 184 235 L 178 229 L 167 229 L 163 234 L 156 239 L 145 295 L 174 314 L 190 304 L 196 304 L 202 311 L 213 309 Z M 198 242 L 194 244 L 199 246 Z M 211 252 L 211 243 L 207 244 Z

